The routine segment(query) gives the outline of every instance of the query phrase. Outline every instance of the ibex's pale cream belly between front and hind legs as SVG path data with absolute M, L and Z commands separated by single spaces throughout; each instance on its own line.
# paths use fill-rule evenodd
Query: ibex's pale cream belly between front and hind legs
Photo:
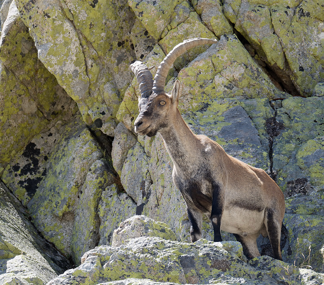
M 261 212 L 238 207 L 225 208 L 221 218 L 221 230 L 237 234 L 260 232 L 264 225 L 264 210 Z

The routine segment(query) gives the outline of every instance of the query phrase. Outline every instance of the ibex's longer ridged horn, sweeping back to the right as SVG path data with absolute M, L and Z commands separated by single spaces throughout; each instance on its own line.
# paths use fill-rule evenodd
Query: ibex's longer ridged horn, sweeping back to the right
M 210 44 L 210 43 L 216 43 L 217 40 L 211 40 L 211 39 L 203 39 L 203 38 L 195 38 L 195 39 L 189 39 L 185 40 L 184 42 L 181 42 L 177 44 L 172 51 L 168 53 L 168 55 L 164 58 L 164 60 L 161 62 L 159 68 L 156 71 L 156 76 L 154 77 L 154 83 L 153 83 L 153 91 L 155 93 L 164 92 L 164 85 L 165 85 L 165 79 L 167 78 L 169 69 L 175 62 L 175 60 L 178 58 L 178 56 L 185 51 L 201 44 Z

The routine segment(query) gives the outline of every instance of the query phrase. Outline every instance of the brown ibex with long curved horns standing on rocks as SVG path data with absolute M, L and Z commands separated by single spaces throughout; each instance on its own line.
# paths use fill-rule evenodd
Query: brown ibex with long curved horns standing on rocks
M 281 232 L 287 235 L 287 229 L 282 223 L 284 195 L 278 185 L 264 170 L 226 154 L 210 138 L 191 132 L 178 109 L 179 80 L 171 95 L 164 92 L 168 71 L 180 54 L 215 42 L 197 38 L 178 44 L 161 62 L 154 82 L 142 62 L 131 65 L 141 92 L 135 132 L 149 137 L 159 132 L 162 136 L 174 164 L 173 181 L 187 205 L 192 242 L 201 238 L 205 214 L 214 228 L 214 242 L 222 241 L 220 230 L 231 232 L 247 258 L 254 258 L 260 256 L 256 239 L 261 233 L 269 236 L 274 257 L 282 260 L 280 237 Z

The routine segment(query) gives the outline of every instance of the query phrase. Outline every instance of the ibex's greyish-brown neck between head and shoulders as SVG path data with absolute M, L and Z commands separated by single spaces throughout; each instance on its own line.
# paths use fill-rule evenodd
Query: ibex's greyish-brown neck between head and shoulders
M 199 141 L 182 119 L 179 110 L 170 126 L 160 131 L 160 134 L 176 169 L 191 169 L 199 152 Z

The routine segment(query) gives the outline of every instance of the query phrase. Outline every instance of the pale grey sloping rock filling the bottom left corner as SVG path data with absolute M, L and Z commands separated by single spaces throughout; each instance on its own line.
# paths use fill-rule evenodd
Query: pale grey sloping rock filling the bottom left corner
M 46 284 L 70 266 L 25 215 L 19 201 L 0 182 L 1 284 Z

